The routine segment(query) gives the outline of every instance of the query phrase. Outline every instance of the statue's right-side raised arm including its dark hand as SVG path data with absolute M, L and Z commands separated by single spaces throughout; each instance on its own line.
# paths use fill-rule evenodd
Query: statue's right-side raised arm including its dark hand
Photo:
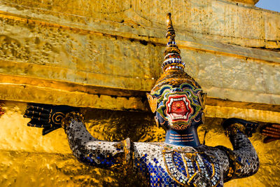
M 258 155 L 248 137 L 255 132 L 257 123 L 238 118 L 230 118 L 223 123 L 226 134 L 230 138 L 233 151 L 220 146 L 228 155 L 229 165 L 224 171 L 225 181 L 251 176 L 258 172 Z

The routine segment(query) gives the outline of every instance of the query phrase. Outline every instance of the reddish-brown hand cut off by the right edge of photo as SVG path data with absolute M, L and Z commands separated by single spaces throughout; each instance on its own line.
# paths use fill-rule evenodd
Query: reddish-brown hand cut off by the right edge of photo
M 264 134 L 265 139 L 263 139 L 263 143 L 267 144 L 270 141 L 275 141 L 280 139 L 280 125 L 279 124 L 269 124 L 265 126 L 262 130 L 260 130 L 262 134 Z

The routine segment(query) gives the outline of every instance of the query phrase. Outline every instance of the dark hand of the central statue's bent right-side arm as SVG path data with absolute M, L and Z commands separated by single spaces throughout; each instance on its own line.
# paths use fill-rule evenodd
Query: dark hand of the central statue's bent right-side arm
M 258 123 L 253 121 L 243 120 L 239 118 L 228 118 L 223 122 L 223 127 L 226 131 L 241 131 L 248 137 L 252 137 L 252 134 L 256 132 Z M 232 133 L 232 132 L 228 132 Z

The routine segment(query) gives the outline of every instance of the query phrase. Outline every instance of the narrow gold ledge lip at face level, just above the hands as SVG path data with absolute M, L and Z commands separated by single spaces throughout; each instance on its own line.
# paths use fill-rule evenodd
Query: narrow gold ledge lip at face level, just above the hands
M 35 83 L 35 82 L 34 82 Z M 55 83 L 55 85 L 59 85 Z M 76 88 L 83 85 L 76 85 Z M 44 88 L 41 85 L 28 85 L 16 83 L 1 83 L 0 99 L 35 102 L 44 104 L 66 104 L 77 107 L 90 107 L 95 109 L 127 110 L 127 111 L 149 111 L 148 102 L 143 97 L 120 97 L 121 90 L 117 96 L 90 94 L 82 90 L 62 90 L 64 88 Z M 98 91 L 97 91 L 98 92 Z M 134 90 L 134 92 L 137 92 Z M 143 95 L 139 92 L 138 95 Z M 228 100 L 207 98 L 206 115 L 211 118 L 244 118 L 268 123 L 279 123 L 280 106 L 271 104 L 257 104 L 232 102 Z

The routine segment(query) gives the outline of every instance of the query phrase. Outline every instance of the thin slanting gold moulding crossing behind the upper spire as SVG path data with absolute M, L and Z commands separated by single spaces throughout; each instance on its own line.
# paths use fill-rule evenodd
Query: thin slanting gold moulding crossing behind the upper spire
M 53 27 L 58 29 L 66 29 L 70 32 L 75 32 L 78 34 L 100 34 L 102 36 L 109 36 L 116 39 L 125 39 L 129 41 L 138 41 L 140 43 L 151 43 L 156 46 L 165 46 L 166 39 L 165 36 L 166 29 L 153 29 L 145 28 L 140 29 L 144 33 L 137 32 L 137 30 L 127 26 L 123 23 L 118 22 L 102 22 L 99 21 L 94 23 L 92 26 L 85 26 L 80 29 L 81 25 L 76 24 L 65 24 L 61 25 L 57 22 L 41 20 L 38 18 L 29 18 L 22 15 L 15 15 L 10 13 L 5 13 L 0 11 L 0 18 L 13 20 L 18 22 L 27 23 L 27 25 L 41 25 L 43 27 Z M 279 16 L 280 19 L 280 16 Z M 25 25 L 25 27 L 27 27 Z M 104 27 L 107 27 L 104 29 Z M 113 27 L 112 27 L 113 26 Z M 111 27 L 111 29 L 110 29 Z M 113 29 L 114 28 L 114 29 Z M 201 50 L 207 53 L 215 53 L 221 55 L 236 56 L 239 58 L 260 60 L 262 62 L 279 62 L 280 63 L 280 53 L 274 52 L 272 50 L 263 50 L 258 48 L 246 48 L 242 46 L 232 45 L 230 43 L 223 43 L 219 41 L 211 41 L 209 39 L 199 39 L 194 36 L 188 36 L 184 33 L 182 29 L 176 29 L 176 41 L 179 47 L 186 48 L 190 50 Z M 163 38 L 163 39 L 162 39 Z

